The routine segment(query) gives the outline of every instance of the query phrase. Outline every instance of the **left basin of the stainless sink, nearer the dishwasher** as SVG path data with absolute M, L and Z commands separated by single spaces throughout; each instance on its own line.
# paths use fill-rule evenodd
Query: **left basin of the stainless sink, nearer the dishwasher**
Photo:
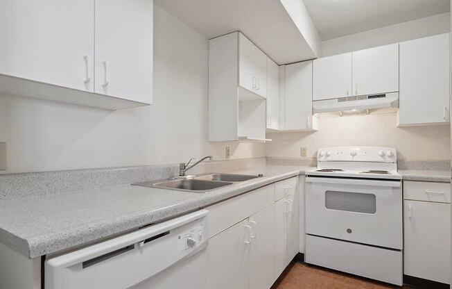
M 213 190 L 215 188 L 224 187 L 225 185 L 232 185 L 232 183 L 227 181 L 208 181 L 200 179 L 177 179 L 173 181 L 159 181 L 157 183 L 150 181 L 145 183 L 137 183 L 136 185 L 193 192 Z

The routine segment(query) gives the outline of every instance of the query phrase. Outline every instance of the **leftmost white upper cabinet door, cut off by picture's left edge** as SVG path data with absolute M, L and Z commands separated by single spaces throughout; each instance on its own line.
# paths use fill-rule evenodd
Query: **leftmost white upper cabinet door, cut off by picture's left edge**
M 0 39 L 0 74 L 94 92 L 94 0 L 1 1 Z

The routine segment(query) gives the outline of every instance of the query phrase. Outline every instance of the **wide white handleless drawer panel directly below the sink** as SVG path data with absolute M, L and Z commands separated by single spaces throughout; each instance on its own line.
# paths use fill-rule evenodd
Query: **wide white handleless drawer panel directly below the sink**
M 209 206 L 209 238 L 273 203 L 275 184 Z

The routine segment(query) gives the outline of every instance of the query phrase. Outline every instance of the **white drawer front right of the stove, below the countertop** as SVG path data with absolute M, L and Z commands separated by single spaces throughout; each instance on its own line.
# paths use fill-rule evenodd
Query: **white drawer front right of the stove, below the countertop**
M 451 184 L 429 183 L 423 181 L 403 181 L 403 199 L 450 203 Z

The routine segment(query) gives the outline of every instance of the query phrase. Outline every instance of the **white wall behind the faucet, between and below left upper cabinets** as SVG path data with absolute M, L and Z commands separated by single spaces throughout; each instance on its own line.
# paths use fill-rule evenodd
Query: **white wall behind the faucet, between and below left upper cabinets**
M 207 142 L 207 39 L 155 6 L 154 104 L 110 112 L 0 94 L 6 172 L 178 163 L 223 158 Z M 229 144 L 232 158 L 264 156 L 263 144 Z

